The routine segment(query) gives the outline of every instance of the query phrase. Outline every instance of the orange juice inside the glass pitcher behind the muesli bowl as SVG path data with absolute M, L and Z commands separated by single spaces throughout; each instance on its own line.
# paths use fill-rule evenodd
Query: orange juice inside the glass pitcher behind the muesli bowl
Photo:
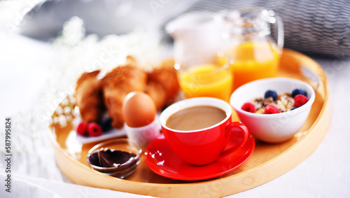
M 279 52 L 269 42 L 246 41 L 229 51 L 233 90 L 260 78 L 276 76 Z

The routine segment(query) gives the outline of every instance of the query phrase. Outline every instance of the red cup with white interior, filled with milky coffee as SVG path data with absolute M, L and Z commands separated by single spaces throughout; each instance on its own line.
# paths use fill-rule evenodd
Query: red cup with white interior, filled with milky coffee
M 160 124 L 174 153 L 193 165 L 214 162 L 243 146 L 248 139 L 246 126 L 232 122 L 230 104 L 211 97 L 185 99 L 172 104 L 160 114 Z M 230 136 L 243 138 L 226 148 Z

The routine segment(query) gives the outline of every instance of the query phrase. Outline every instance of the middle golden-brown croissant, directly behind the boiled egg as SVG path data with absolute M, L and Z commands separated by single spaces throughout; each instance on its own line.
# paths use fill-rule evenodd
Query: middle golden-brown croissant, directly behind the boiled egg
M 104 104 L 112 127 L 120 129 L 124 125 L 123 100 L 130 92 L 144 91 L 147 83 L 147 73 L 134 66 L 133 61 L 118 66 L 101 80 Z

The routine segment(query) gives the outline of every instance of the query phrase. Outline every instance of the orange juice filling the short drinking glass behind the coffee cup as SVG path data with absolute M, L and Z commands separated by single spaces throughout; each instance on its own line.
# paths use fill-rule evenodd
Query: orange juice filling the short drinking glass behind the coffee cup
M 187 98 L 215 97 L 230 100 L 232 92 L 230 66 L 203 64 L 178 74 L 181 89 Z

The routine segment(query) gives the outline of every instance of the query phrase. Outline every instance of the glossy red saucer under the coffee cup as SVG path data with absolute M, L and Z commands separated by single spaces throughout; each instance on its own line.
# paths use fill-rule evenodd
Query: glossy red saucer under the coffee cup
M 231 142 L 235 141 L 239 140 L 231 140 Z M 255 141 L 252 136 L 249 136 L 246 143 L 235 152 L 219 157 L 211 164 L 195 166 L 181 160 L 169 148 L 165 136 L 160 134 L 146 148 L 145 159 L 148 167 L 160 176 L 183 181 L 198 181 L 222 176 L 236 169 L 248 160 L 254 148 Z

